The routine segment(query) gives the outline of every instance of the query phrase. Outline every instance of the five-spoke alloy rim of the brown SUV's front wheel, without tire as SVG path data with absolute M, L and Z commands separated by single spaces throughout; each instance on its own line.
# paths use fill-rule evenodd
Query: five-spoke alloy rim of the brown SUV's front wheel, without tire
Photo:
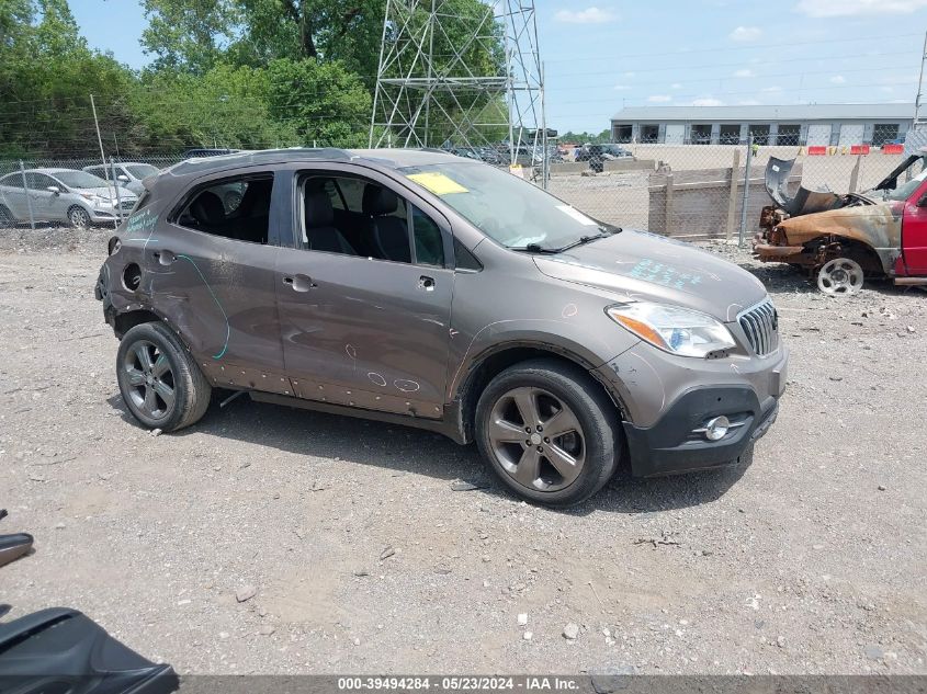
M 534 491 L 572 485 L 586 462 L 583 426 L 569 407 L 543 388 L 512 388 L 496 400 L 487 426 L 502 469 Z

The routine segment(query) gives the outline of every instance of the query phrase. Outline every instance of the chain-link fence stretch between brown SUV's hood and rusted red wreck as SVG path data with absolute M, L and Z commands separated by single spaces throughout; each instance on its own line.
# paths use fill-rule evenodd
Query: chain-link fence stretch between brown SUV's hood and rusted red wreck
M 737 239 L 744 201 L 745 236 L 757 229 L 760 209 L 771 204 L 765 171 L 769 159 L 795 164 L 790 186 L 835 193 L 863 193 L 904 159 L 900 148 L 764 146 L 755 141 L 746 175 L 748 146 L 621 145 L 628 156 L 602 162 L 552 162 L 547 190 L 609 224 L 649 229 L 686 240 Z M 746 191 L 746 193 L 745 193 Z

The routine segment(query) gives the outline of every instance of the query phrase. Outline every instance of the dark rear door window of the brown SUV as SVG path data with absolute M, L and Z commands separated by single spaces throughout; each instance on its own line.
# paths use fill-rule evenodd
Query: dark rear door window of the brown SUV
M 268 242 L 273 174 L 249 174 L 200 187 L 177 216 L 177 224 L 249 243 Z M 137 207 L 147 202 L 143 197 Z

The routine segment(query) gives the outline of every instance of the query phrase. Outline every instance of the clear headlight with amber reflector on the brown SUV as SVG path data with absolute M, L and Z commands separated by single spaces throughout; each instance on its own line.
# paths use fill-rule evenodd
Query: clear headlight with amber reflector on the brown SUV
M 672 354 L 703 357 L 736 346 L 724 323 L 687 308 L 635 302 L 610 306 L 606 312 L 642 340 Z

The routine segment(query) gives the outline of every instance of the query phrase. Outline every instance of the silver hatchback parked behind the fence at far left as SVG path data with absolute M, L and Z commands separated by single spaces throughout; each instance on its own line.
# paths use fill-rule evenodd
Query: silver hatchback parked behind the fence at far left
M 30 218 L 67 221 L 75 228 L 112 224 L 135 207 L 138 196 L 75 169 L 26 169 L 0 178 L 0 227 Z

